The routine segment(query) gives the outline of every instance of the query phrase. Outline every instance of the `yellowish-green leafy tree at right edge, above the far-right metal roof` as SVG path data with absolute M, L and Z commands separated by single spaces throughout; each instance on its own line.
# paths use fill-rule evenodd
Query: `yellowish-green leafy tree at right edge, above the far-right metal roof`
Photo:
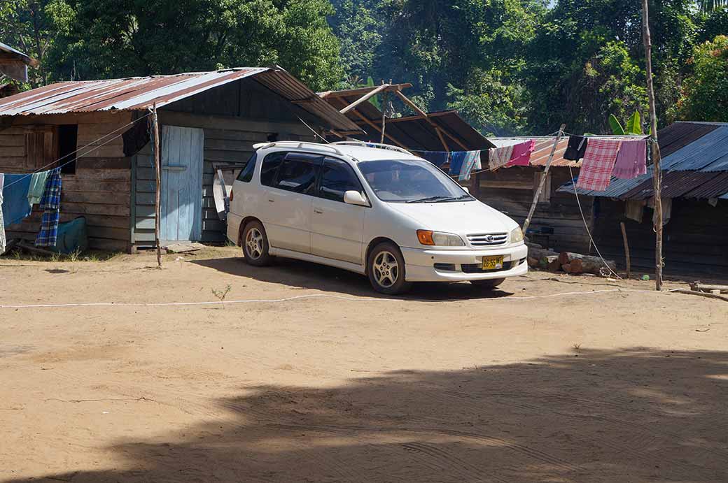
M 695 47 L 694 71 L 670 115 L 688 121 L 728 122 L 728 36 Z

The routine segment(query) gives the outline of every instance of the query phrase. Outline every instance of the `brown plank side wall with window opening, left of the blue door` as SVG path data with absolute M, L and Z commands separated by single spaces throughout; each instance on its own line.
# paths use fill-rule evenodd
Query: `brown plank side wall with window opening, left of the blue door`
M 128 250 L 130 247 L 130 159 L 124 157 L 120 135 L 96 141 L 131 120 L 130 112 L 16 116 L 12 127 L 0 130 L 0 172 L 32 172 L 40 168 L 37 153 L 28 152 L 25 135 L 52 132 L 60 124 L 78 124 L 79 151 L 76 173 L 63 175 L 60 220 L 85 216 L 90 247 L 97 250 Z M 58 139 L 52 138 L 58 145 Z M 103 144 L 103 145 L 102 145 Z M 98 147 L 95 147 L 98 146 Z M 46 155 L 55 158 L 57 149 Z M 45 159 L 47 162 L 55 159 Z M 33 166 L 31 166 L 33 164 Z M 47 163 L 45 163 L 47 164 Z M 7 227 L 8 238 L 35 239 L 41 212 L 38 205 L 22 223 Z

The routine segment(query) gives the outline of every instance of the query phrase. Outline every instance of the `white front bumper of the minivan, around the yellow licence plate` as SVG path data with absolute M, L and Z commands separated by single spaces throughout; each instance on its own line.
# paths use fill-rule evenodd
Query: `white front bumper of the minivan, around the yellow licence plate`
M 502 279 L 526 274 L 529 249 L 525 244 L 490 250 L 422 250 L 402 248 L 407 282 L 459 282 Z M 503 256 L 504 267 L 481 271 L 483 257 Z

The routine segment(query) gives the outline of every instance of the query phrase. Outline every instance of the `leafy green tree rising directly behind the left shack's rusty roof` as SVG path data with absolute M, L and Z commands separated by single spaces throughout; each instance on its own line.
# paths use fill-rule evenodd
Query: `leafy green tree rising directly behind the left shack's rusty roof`
M 65 1 L 52 52 L 64 79 L 280 64 L 328 89 L 344 76 L 327 0 Z

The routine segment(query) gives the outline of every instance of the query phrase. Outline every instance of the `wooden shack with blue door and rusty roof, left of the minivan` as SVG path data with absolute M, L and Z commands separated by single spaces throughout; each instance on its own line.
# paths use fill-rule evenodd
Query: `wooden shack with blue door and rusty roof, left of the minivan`
M 162 239 L 225 239 L 213 166 L 240 164 L 253 143 L 315 140 L 312 129 L 356 124 L 282 68 L 51 84 L 0 99 L 0 172 L 61 168 L 61 221 L 84 216 L 90 247 L 133 252 L 154 242 L 151 143 L 124 154 L 122 134 L 157 105 L 162 147 Z M 143 129 L 143 131 L 146 129 Z M 70 161 L 70 162 L 69 162 Z M 7 227 L 34 239 L 40 212 Z

